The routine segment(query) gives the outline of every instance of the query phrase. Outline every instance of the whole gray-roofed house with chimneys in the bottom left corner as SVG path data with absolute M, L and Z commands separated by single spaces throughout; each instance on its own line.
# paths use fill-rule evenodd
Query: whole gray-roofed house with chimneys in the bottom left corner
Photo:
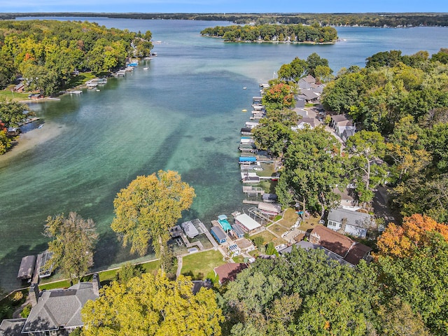
M 99 297 L 99 288 L 98 274 L 93 275 L 92 282 L 76 283 L 67 289 L 41 292 L 37 283 L 31 283 L 29 300 L 32 308 L 28 318 L 2 321 L 0 335 L 67 335 L 84 325 L 81 309 L 85 302 Z

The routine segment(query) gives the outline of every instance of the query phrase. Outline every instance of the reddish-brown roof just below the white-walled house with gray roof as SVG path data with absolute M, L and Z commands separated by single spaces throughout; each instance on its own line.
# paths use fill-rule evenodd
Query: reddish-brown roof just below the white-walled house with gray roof
M 313 235 L 318 235 L 319 239 L 317 240 L 317 237 L 312 237 Z M 339 254 L 342 258 L 345 257 L 354 243 L 349 237 L 341 235 L 323 225 L 317 225 L 316 228 L 311 231 L 309 241 Z

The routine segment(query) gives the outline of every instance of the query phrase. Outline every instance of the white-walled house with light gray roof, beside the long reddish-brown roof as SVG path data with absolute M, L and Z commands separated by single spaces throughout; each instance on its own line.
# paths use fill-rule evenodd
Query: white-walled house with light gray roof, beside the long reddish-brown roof
M 353 237 L 367 237 L 367 230 L 376 228 L 369 214 L 344 208 L 331 209 L 328 214 L 327 227 L 331 230 L 346 233 Z

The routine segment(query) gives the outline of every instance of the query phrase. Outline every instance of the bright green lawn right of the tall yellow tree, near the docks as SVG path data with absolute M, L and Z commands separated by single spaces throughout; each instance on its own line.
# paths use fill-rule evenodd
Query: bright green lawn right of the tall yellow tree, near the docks
M 183 257 L 181 274 L 191 276 L 193 280 L 206 279 L 213 269 L 225 264 L 219 251 L 197 252 Z

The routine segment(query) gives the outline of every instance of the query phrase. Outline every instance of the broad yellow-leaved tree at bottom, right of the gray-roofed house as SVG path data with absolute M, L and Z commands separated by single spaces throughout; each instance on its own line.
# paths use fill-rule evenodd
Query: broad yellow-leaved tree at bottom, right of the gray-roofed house
M 194 295 L 185 276 L 143 274 L 126 284 L 113 282 L 81 311 L 83 336 L 172 335 L 219 336 L 223 320 L 212 290 Z

